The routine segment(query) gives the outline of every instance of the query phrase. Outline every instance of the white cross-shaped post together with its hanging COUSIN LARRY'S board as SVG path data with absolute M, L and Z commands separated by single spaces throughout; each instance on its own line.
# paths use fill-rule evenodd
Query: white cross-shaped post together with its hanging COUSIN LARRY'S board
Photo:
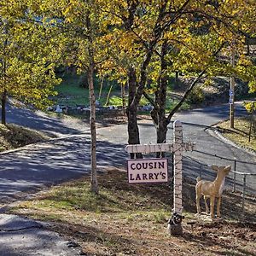
M 183 126 L 179 120 L 173 122 L 173 143 L 157 144 L 132 144 L 126 146 L 128 153 L 156 153 L 172 152 L 174 189 L 172 218 L 168 223 L 168 230 L 172 235 L 181 235 L 182 212 L 183 212 L 183 152 L 195 150 L 195 143 L 183 143 Z M 128 180 L 129 183 L 159 183 L 167 182 L 167 160 L 148 159 L 148 160 L 128 160 Z M 180 220 L 180 222 L 174 222 Z

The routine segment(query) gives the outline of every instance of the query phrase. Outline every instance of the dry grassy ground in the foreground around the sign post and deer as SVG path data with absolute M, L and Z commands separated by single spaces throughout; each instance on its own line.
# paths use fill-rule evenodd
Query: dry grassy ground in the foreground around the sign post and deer
M 186 179 L 183 184 L 185 219 L 179 237 L 166 233 L 172 186 L 131 185 L 119 171 L 99 176 L 100 195 L 90 193 L 90 177 L 84 177 L 24 201 L 11 212 L 48 221 L 52 230 L 77 241 L 86 255 L 255 255 L 255 198 L 247 199 L 250 224 L 234 220 L 241 217 L 241 196 L 232 193 L 223 199 L 229 220 L 209 222 L 195 217 L 195 184 Z

